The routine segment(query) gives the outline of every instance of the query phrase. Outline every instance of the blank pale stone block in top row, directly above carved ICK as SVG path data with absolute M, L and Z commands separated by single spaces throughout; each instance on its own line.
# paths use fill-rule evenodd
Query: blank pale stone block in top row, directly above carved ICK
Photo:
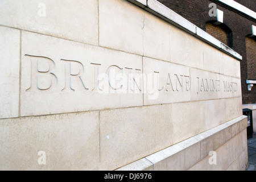
M 143 55 L 144 12 L 139 7 L 127 1 L 100 0 L 99 17 L 100 46 Z

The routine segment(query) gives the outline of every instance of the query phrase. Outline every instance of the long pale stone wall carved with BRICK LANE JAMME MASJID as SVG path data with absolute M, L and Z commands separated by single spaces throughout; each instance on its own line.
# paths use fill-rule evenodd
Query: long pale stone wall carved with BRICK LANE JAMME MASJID
M 157 1 L 131 2 L 1 2 L 0 169 L 114 170 L 230 122 L 239 131 L 210 148 L 239 140 L 229 166 L 243 155 L 245 169 L 240 55 Z

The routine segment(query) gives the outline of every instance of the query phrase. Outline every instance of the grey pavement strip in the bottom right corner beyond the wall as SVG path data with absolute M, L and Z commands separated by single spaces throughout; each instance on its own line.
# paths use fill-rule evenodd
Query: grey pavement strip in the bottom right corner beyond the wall
M 247 140 L 248 146 L 248 168 L 247 171 L 256 171 L 256 133 L 253 138 Z

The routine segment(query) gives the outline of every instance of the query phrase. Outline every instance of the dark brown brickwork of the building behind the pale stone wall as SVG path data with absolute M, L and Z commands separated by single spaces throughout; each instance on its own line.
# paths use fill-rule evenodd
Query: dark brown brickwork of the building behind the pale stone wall
M 228 43 L 228 46 L 233 48 L 234 51 L 240 53 L 243 57 L 241 61 L 241 84 L 242 84 L 242 102 L 243 104 L 256 104 L 256 85 L 251 91 L 247 90 L 246 80 L 248 76 L 255 75 L 255 64 L 256 57 L 255 54 L 251 54 L 251 51 L 255 52 L 255 44 L 247 43 L 246 36 L 251 34 L 251 25 L 256 26 L 256 20 L 250 18 L 249 16 L 243 15 L 238 11 L 231 9 L 222 5 L 218 0 L 158 0 L 163 3 L 163 5 L 174 10 L 177 14 L 188 19 L 190 22 L 200 27 L 204 31 L 208 31 L 210 28 L 207 27 L 207 22 L 216 21 L 217 18 L 209 16 L 209 4 L 214 2 L 217 5 L 217 9 L 224 11 L 224 24 L 229 30 L 232 31 L 233 42 Z M 243 6 L 248 7 L 251 10 L 256 11 L 256 1 L 255 0 L 236 0 Z M 209 26 L 209 24 L 208 24 Z M 212 27 L 213 28 L 213 27 Z M 220 31 L 217 27 L 216 31 Z M 216 36 L 212 34 L 213 36 Z M 218 38 L 220 41 L 222 38 Z M 249 42 L 249 41 L 248 41 Z M 246 49 L 246 45 L 247 49 Z M 231 45 L 231 46 L 230 46 Z M 253 49 L 248 47 L 254 47 Z M 247 59 L 247 57 L 249 57 Z M 250 69 L 250 68 L 252 69 Z M 255 78 L 255 77 L 254 77 Z

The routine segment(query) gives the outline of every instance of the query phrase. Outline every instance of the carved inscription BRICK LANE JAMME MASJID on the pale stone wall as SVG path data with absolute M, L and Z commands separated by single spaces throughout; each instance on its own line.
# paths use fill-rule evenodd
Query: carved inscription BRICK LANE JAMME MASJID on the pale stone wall
M 91 70 L 92 76 L 86 77 L 85 67 L 80 61 L 60 59 L 60 63 L 64 66 L 56 68 L 55 61 L 48 57 L 25 56 L 31 60 L 31 83 L 30 88 L 26 89 L 27 92 L 49 92 L 57 87 L 59 80 L 63 80 L 64 87 L 60 89 L 61 92 L 141 93 L 143 77 L 147 81 L 147 89 L 143 92 L 154 95 L 154 92 L 157 92 L 157 96 L 158 92 L 190 92 L 193 86 L 197 88 L 197 94 L 220 91 L 234 93 L 238 90 L 237 83 L 232 81 L 196 77 L 197 85 L 191 85 L 189 75 L 163 74 L 159 71 L 143 75 L 142 69 L 119 67 L 119 65 L 109 65 L 105 67 L 105 72 L 102 72 L 101 63 L 88 64 L 86 70 Z M 57 78 L 56 69 L 64 69 L 64 75 L 58 75 Z M 88 82 L 93 84 L 87 86 Z

